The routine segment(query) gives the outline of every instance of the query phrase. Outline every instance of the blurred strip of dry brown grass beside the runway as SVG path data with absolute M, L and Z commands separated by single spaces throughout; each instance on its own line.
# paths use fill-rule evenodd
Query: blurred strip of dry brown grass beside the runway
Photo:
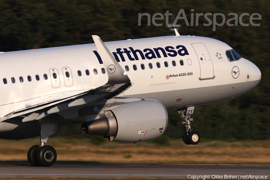
M 84 135 L 83 135 L 84 136 Z M 0 162 L 27 162 L 27 151 L 39 138 L 0 139 Z M 56 163 L 144 163 L 144 164 L 270 164 L 270 140 L 209 141 L 185 145 L 182 139 L 164 145 L 154 142 L 93 144 L 87 138 L 52 137 L 47 145 L 57 151 Z

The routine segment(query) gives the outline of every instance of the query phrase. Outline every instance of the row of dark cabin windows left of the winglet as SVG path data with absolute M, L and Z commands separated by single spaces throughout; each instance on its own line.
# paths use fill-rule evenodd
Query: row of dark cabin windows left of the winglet
M 98 74 L 98 70 L 97 70 L 97 69 L 93 69 L 93 72 L 94 72 L 95 75 Z M 105 69 L 104 69 L 104 68 L 101 68 L 101 72 L 102 72 L 102 74 L 105 74 Z M 78 70 L 77 73 L 78 73 L 78 76 L 82 76 L 82 72 L 81 72 L 80 70 Z M 88 75 L 88 76 L 90 75 L 90 72 L 89 72 L 88 69 L 85 70 L 85 74 Z M 66 75 L 67 78 L 70 77 L 69 72 L 65 72 L 65 75 Z M 45 80 L 48 79 L 48 75 L 47 75 L 47 74 L 44 74 L 43 77 L 44 77 Z M 57 79 L 57 74 L 56 74 L 55 72 L 52 73 L 52 77 L 53 77 L 54 79 Z M 35 78 L 36 78 L 37 81 L 40 80 L 39 75 L 35 75 Z M 14 77 L 12 77 L 12 78 L 10 78 L 10 79 L 11 79 L 11 82 L 12 82 L 12 83 L 15 83 L 15 82 L 16 82 Z M 31 78 L 30 75 L 27 76 L 27 80 L 28 80 L 29 82 L 32 81 L 32 78 Z M 19 81 L 20 81 L 21 83 L 23 82 L 23 77 L 22 77 L 22 76 L 19 77 Z M 7 84 L 7 79 L 6 79 L 6 78 L 3 78 L 3 82 L 4 82 L 4 84 Z

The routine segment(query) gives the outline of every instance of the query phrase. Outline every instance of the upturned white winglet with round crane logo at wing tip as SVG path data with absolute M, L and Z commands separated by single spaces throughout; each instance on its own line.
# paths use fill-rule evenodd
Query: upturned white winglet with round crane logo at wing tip
M 107 73 L 109 76 L 107 84 L 129 83 L 130 79 L 128 78 L 128 75 L 120 66 L 120 64 L 116 61 L 115 57 L 108 50 L 101 38 L 97 35 L 92 35 L 92 38 L 95 42 L 96 47 L 98 48 L 98 53 L 101 56 L 105 69 L 107 69 Z

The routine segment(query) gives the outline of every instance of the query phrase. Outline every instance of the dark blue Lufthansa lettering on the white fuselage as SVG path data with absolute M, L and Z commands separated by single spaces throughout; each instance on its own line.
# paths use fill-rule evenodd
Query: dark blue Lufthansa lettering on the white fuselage
M 161 56 L 175 57 L 177 56 L 177 54 L 179 54 L 180 56 L 189 55 L 189 53 L 187 52 L 187 48 L 184 47 L 183 45 L 178 45 L 176 46 L 176 48 L 174 48 L 173 46 L 166 46 L 164 49 L 162 47 L 157 47 L 153 49 L 146 48 L 143 51 L 139 49 L 134 50 L 133 47 L 128 48 L 129 50 L 127 48 L 123 48 L 123 50 L 121 48 L 117 48 L 116 52 L 113 52 L 113 55 L 117 60 L 117 62 L 120 62 L 120 59 L 122 62 L 126 61 L 125 56 L 123 55 L 124 53 L 128 56 L 128 59 L 131 61 L 139 60 L 139 57 L 141 59 L 155 59 L 161 58 Z M 93 52 L 97 56 L 99 63 L 103 64 L 102 59 L 98 54 L 98 51 L 94 50 Z

